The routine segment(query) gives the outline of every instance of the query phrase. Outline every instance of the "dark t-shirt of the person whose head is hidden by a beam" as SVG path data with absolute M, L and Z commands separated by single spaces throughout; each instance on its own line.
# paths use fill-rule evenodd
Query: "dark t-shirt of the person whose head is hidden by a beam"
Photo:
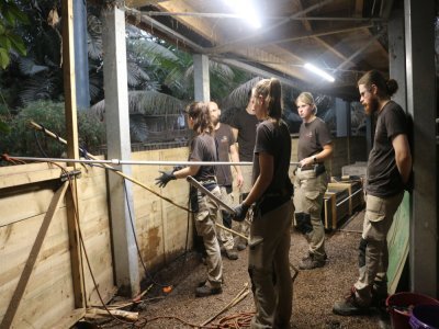
M 238 111 L 230 123 L 230 126 L 238 129 L 239 161 L 252 161 L 256 139 L 256 126 L 259 121 L 256 115 L 247 111 Z

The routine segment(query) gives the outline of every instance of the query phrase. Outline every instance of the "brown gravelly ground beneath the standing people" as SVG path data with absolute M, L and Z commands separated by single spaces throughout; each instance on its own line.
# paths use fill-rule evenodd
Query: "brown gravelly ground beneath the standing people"
M 362 220 L 361 213 L 351 220 Z M 307 243 L 305 238 L 294 229 L 291 231 L 291 237 L 290 260 L 297 268 L 300 259 L 307 250 Z M 357 229 L 327 232 L 328 260 L 326 265 L 312 271 L 300 271 L 295 279 L 291 328 L 390 328 L 389 317 L 379 311 L 357 317 L 341 317 L 331 311 L 333 304 L 347 294 L 357 279 L 359 239 L 360 231 Z M 212 316 L 217 315 L 243 291 L 244 285 L 249 283 L 247 254 L 248 249 L 240 251 L 239 259 L 236 261 L 223 257 L 225 283 L 221 295 L 195 298 L 194 288 L 199 282 L 205 279 L 205 265 L 195 252 L 191 252 L 156 275 L 157 284 L 154 284 L 145 294 L 140 304 L 125 308 L 139 311 L 139 320 L 135 325 L 121 324 L 115 320 L 94 324 L 99 324 L 99 328 L 177 329 L 200 326 Z M 168 284 L 171 284 L 173 288 L 170 293 L 165 294 L 160 285 Z M 250 292 L 244 300 L 221 314 L 210 324 L 218 324 L 218 320 L 226 316 L 237 316 L 245 322 L 246 319 L 248 321 L 248 313 L 252 311 L 254 300 Z M 221 328 L 245 328 L 245 326 Z

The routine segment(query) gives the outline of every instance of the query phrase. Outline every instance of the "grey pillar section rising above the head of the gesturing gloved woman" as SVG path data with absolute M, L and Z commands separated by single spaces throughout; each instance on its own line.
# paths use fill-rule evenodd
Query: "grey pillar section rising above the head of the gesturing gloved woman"
M 193 79 L 195 101 L 209 102 L 211 100 L 211 86 L 209 79 L 209 57 L 206 55 L 193 55 Z

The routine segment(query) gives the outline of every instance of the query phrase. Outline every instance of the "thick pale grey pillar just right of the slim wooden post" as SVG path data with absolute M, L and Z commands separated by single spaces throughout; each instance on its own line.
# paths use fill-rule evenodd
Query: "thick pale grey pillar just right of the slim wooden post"
M 108 5 L 103 11 L 102 41 L 105 56 L 103 76 L 108 158 L 130 160 L 128 84 L 123 2 L 115 1 L 115 4 Z M 117 169 L 126 175 L 131 175 L 130 166 L 122 164 Z M 125 181 L 125 184 L 126 194 L 123 179 L 109 173 L 115 279 L 119 293 L 133 297 L 139 293 L 139 273 L 134 232 L 131 226 L 131 220 L 135 220 L 133 188 L 128 181 Z

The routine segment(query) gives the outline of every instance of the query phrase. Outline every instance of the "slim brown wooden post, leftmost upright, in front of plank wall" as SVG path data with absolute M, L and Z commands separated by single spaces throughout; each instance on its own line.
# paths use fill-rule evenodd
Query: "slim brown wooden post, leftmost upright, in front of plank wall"
M 79 159 L 78 146 L 78 122 L 76 106 L 76 80 L 75 80 L 75 38 L 74 38 L 74 0 L 63 0 L 63 73 L 64 73 L 64 98 L 67 133 L 67 157 Z M 74 164 L 77 169 L 78 164 Z M 75 207 L 78 209 L 79 203 L 74 198 L 77 196 L 77 180 L 71 181 L 71 190 L 67 193 L 67 225 L 70 241 L 70 262 L 71 275 L 75 292 L 75 307 L 86 306 L 85 288 L 82 277 L 81 249 L 79 241 L 79 228 Z M 72 193 L 71 193 L 72 191 Z

